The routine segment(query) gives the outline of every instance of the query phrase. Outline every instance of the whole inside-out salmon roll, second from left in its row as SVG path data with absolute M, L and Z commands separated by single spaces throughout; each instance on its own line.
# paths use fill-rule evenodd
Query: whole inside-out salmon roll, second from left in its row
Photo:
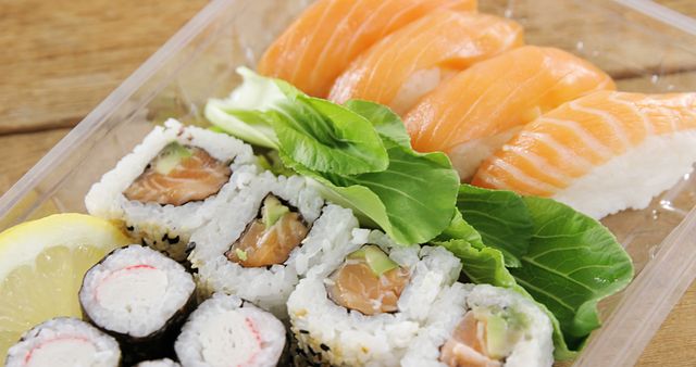
M 310 267 L 341 257 L 358 220 L 304 178 L 252 179 L 215 220 L 191 236 L 191 266 L 206 293 L 237 294 L 287 318 L 288 295 Z M 322 208 L 323 207 L 323 208 Z

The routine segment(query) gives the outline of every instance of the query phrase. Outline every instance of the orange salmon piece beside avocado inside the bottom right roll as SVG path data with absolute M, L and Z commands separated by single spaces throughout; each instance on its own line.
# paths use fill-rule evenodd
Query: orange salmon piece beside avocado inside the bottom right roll
M 449 367 L 499 367 L 486 354 L 486 325 L 468 312 L 440 347 L 439 360 Z

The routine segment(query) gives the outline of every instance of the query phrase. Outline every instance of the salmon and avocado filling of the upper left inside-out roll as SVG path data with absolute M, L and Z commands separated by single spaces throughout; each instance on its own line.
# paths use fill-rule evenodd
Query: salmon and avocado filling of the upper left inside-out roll
M 128 200 L 184 205 L 216 194 L 232 169 L 203 149 L 170 143 L 123 192 Z

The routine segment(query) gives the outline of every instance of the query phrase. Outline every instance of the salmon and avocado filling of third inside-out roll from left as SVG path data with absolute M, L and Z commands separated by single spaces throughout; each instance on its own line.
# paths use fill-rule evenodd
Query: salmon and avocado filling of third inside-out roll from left
M 348 255 L 330 279 L 327 291 L 332 301 L 364 315 L 375 315 L 398 311 L 397 302 L 409 283 L 410 273 L 377 246 L 369 245 Z

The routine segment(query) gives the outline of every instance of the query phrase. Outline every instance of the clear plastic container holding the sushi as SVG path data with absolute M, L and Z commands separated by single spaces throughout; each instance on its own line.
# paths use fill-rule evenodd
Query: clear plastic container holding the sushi
M 206 124 L 210 97 L 238 83 L 234 69 L 262 50 L 308 0 L 216 0 L 170 39 L 0 198 L 0 230 L 57 212 L 85 212 L 92 182 L 166 117 Z M 645 0 L 480 0 L 525 26 L 529 43 L 586 58 L 621 89 L 696 89 L 696 22 Z M 147 22 L 147 20 L 142 20 Z M 696 176 L 696 175 L 694 175 Z M 639 184 L 636 184 L 639 185 Z M 627 188 L 630 189 L 630 188 Z M 696 276 L 696 178 L 643 211 L 604 222 L 635 262 L 636 278 L 601 304 L 605 325 L 577 366 L 632 365 Z

